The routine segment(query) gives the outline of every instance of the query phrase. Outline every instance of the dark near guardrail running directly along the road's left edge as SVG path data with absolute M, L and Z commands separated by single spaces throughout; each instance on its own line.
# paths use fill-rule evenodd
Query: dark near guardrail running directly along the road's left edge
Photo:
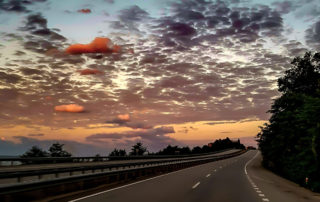
M 99 185 L 114 185 L 130 180 L 145 178 L 175 170 L 191 167 L 212 161 L 218 161 L 226 158 L 238 156 L 246 152 L 241 150 L 231 154 L 220 156 L 206 156 L 193 159 L 176 159 L 174 161 L 161 161 L 146 163 L 144 166 L 138 164 L 123 164 L 122 169 L 106 170 L 97 173 L 83 174 L 78 176 L 68 176 L 56 178 L 46 181 L 19 183 L 0 187 L 0 201 L 23 201 L 44 198 L 48 196 L 56 196 L 68 192 L 84 190 Z M 101 169 L 101 168 L 99 168 Z

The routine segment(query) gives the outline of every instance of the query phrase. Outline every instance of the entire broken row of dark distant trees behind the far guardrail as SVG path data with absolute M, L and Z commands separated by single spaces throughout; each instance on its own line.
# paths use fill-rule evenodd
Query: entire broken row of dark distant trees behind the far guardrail
M 21 157 L 70 157 L 71 153 L 63 149 L 64 144 L 59 142 L 52 144 L 49 148 L 49 151 L 45 151 L 37 146 L 33 146 L 31 149 L 26 151 Z M 141 142 L 137 142 L 131 147 L 131 151 L 127 153 L 125 149 L 115 148 L 109 153 L 109 156 L 139 156 L 139 155 L 187 155 L 187 154 L 201 154 L 208 152 L 215 152 L 219 150 L 236 148 L 236 149 L 245 149 L 245 146 L 240 143 L 240 140 L 232 141 L 228 137 L 225 139 L 218 139 L 202 147 L 196 146 L 190 149 L 189 147 L 179 147 L 168 145 L 166 148 L 155 152 L 148 152 L 147 147 L 145 147 Z M 96 157 L 100 157 L 100 154 L 97 154 Z

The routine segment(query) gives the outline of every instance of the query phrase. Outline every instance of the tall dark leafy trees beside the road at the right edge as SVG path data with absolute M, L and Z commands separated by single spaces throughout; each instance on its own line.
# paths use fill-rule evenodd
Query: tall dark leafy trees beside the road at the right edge
M 320 53 L 296 57 L 278 79 L 282 93 L 258 134 L 263 164 L 320 191 Z

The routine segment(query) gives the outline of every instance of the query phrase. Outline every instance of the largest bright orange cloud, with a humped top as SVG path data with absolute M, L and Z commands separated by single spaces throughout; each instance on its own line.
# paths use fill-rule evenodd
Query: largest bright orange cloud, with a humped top
M 120 51 L 120 46 L 113 45 L 109 38 L 104 37 L 97 37 L 89 44 L 73 44 L 66 49 L 69 54 L 119 53 Z

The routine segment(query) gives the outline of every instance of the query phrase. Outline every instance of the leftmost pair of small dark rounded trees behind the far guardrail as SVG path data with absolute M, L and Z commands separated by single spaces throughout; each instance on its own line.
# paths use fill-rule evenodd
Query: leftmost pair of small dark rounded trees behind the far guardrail
M 64 144 L 60 144 L 59 142 L 53 143 L 49 148 L 49 152 L 41 149 L 38 146 L 33 146 L 31 147 L 31 149 L 29 149 L 24 154 L 22 154 L 21 157 L 28 158 L 28 157 L 70 157 L 72 156 L 71 153 L 63 149 L 63 146 Z

